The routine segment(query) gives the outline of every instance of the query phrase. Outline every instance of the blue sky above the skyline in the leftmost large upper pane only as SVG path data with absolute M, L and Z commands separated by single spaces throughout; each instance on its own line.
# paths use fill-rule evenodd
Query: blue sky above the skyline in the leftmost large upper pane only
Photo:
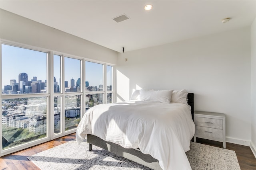
M 19 80 L 19 74 L 28 74 L 28 80 L 46 80 L 47 53 L 22 49 L 2 44 L 2 88 L 10 85 L 10 80 Z

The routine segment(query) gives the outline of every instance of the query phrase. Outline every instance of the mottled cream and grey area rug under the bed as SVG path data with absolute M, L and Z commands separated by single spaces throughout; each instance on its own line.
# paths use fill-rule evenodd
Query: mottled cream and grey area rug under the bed
M 28 157 L 41 170 L 150 170 L 88 143 L 69 141 Z M 186 152 L 192 170 L 240 170 L 234 150 L 190 143 Z

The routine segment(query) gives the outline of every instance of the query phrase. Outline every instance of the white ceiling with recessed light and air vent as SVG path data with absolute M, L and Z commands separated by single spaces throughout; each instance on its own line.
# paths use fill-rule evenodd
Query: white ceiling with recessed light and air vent
M 256 16 L 256 0 L 0 0 L 0 8 L 118 52 L 250 26 Z M 113 20 L 122 14 L 129 19 Z

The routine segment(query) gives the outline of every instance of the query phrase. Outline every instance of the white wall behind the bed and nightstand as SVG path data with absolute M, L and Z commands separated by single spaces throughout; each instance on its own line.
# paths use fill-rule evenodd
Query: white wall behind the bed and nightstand
M 187 89 L 195 110 L 226 114 L 227 141 L 250 145 L 250 27 L 119 53 L 117 101 L 135 88 Z

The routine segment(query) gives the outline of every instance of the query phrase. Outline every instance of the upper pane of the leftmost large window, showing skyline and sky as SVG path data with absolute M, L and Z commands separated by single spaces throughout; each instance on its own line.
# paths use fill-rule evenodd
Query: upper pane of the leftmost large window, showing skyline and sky
M 47 92 L 48 53 L 2 44 L 2 94 Z

